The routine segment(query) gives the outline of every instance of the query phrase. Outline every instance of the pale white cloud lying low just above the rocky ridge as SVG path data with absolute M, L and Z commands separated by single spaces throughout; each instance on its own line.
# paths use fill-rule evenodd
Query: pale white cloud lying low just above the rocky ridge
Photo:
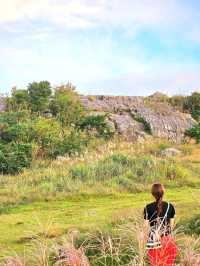
M 140 65 L 139 71 L 104 81 L 81 84 L 85 94 L 105 95 L 150 95 L 161 91 L 168 95 L 200 92 L 200 67 L 198 65 L 165 65 L 154 62 Z

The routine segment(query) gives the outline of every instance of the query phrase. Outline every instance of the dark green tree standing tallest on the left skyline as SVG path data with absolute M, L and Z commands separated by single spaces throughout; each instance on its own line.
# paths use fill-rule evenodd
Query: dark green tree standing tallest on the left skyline
M 32 82 L 28 85 L 29 105 L 32 112 L 44 112 L 48 110 L 49 98 L 52 94 L 48 81 Z

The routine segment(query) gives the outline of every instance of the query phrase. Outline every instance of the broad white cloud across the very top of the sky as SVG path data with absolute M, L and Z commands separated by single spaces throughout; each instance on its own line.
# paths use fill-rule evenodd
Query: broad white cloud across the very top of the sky
M 43 18 L 68 28 L 165 27 L 189 21 L 180 0 L 0 0 L 0 23 Z

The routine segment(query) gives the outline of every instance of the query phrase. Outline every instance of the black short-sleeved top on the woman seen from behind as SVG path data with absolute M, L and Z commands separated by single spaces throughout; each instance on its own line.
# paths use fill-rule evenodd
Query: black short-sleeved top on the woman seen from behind
M 156 227 L 159 225 L 158 223 L 161 223 L 163 221 L 167 208 L 168 208 L 168 203 L 163 201 L 162 212 L 158 217 L 156 211 L 156 202 L 152 202 L 144 208 L 144 219 L 149 221 L 151 227 Z M 165 234 L 169 234 L 171 232 L 170 219 L 174 218 L 174 216 L 175 216 L 174 206 L 171 203 L 169 203 L 169 209 L 165 221 L 163 221 L 163 228 L 165 228 Z

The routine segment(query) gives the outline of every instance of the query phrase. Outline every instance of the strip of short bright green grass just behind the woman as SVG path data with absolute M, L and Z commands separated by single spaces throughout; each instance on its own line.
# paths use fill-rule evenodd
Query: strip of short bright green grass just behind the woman
M 186 219 L 199 212 L 199 189 L 170 189 L 166 200 L 177 209 L 177 218 Z M 152 198 L 147 193 L 115 196 L 90 196 L 78 199 L 66 198 L 49 202 L 34 202 L 12 208 L 1 215 L 0 248 L 7 251 L 22 251 L 31 238 L 49 226 L 49 238 L 67 233 L 69 229 L 81 231 L 103 228 L 118 219 L 128 216 L 135 209 L 141 210 Z M 199 204 L 197 204 L 199 202 Z M 190 210 L 185 212 L 185 210 Z M 122 217 L 121 217 L 122 216 Z

